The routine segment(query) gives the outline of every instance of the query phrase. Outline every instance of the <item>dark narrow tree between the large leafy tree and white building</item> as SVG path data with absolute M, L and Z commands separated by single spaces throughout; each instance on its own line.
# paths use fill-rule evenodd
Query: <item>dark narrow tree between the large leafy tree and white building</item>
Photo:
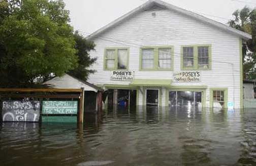
M 89 74 L 95 72 L 94 70 L 88 70 L 88 67 L 97 60 L 97 58 L 89 56 L 89 51 L 94 50 L 95 44 L 79 35 L 78 31 L 75 32 L 74 38 L 76 41 L 75 48 L 77 49 L 78 67 L 71 70 L 69 74 L 86 81 Z

